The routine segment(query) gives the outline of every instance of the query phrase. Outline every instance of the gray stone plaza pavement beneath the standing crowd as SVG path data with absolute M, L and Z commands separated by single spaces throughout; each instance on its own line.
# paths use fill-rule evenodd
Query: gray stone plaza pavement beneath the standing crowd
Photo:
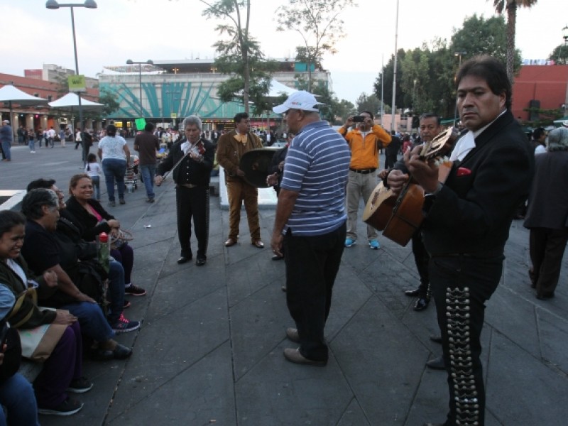
M 24 189 L 39 177 L 53 177 L 65 189 L 80 173 L 80 151 L 69 143 L 36 151 L 13 148 L 12 162 L 0 163 L 0 190 Z M 102 192 L 106 201 L 104 184 Z M 293 322 L 280 290 L 284 262 L 271 261 L 268 248 L 274 210 L 260 210 L 265 249 L 250 244 L 244 210 L 239 244 L 226 249 L 228 212 L 211 197 L 207 265 L 179 266 L 173 182 L 155 192 L 156 202 L 148 204 L 139 185 L 125 205 L 109 207 L 135 236 L 133 283 L 148 292 L 130 297 L 125 311 L 143 321 L 141 329 L 116 338 L 133 346 L 133 355 L 85 361 L 94 388 L 79 395 L 83 410 L 41 416 L 42 425 L 419 426 L 444 420 L 445 373 L 425 368 L 441 351 L 429 339 L 437 329 L 435 307 L 414 312 L 403 294 L 419 282 L 410 246 L 381 238 L 381 249 L 370 250 L 359 224 L 359 242 L 345 249 L 334 287 L 329 363 L 298 366 L 282 355 L 294 347 L 285 339 Z M 529 285 L 528 231 L 519 221 L 506 256 L 482 334 L 486 425 L 566 425 L 567 261 L 557 297 L 541 301 Z

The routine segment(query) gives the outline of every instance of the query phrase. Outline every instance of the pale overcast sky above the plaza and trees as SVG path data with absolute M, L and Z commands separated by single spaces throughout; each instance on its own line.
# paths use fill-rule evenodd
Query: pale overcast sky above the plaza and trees
M 338 53 L 325 55 L 332 90 L 355 104 L 373 92 L 382 65 L 398 49 L 413 49 L 435 38 L 449 41 L 464 19 L 495 14 L 493 0 L 399 0 L 395 37 L 395 0 L 355 0 L 341 13 L 346 37 Z M 82 4 L 83 0 L 75 0 Z M 80 74 L 96 77 L 105 65 L 126 60 L 214 58 L 212 44 L 222 21 L 202 16 L 200 0 L 96 0 L 97 9 L 75 8 Z M 67 4 L 61 0 L 60 4 Z M 289 58 L 302 44 L 300 35 L 278 32 L 275 10 L 285 0 L 251 0 L 251 34 L 269 58 Z M 70 8 L 50 10 L 45 0 L 0 0 L 2 41 L 0 72 L 23 75 L 24 69 L 56 64 L 75 70 Z M 546 59 L 563 43 L 568 1 L 540 0 L 518 9 L 515 43 L 523 58 Z M 387 100 L 385 100 L 386 103 Z

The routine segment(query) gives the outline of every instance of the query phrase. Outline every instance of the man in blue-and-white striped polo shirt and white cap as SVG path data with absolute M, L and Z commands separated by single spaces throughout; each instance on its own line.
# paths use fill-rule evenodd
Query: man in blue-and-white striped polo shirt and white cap
M 324 327 L 346 236 L 345 187 L 351 155 L 344 138 L 320 119 L 314 95 L 295 92 L 282 105 L 296 136 L 286 156 L 271 239 L 286 256 L 286 302 L 296 323 L 286 336 L 300 344 L 285 349 L 288 361 L 327 364 Z

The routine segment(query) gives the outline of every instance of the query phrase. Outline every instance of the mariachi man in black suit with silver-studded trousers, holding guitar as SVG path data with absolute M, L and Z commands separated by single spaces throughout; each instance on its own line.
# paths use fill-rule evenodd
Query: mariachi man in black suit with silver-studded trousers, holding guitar
M 528 195 L 534 155 L 510 112 L 511 85 L 500 61 L 468 60 L 456 82 L 457 108 L 469 131 L 452 151 L 447 180 L 438 182 L 437 165 L 421 160 L 419 148 L 405 153 L 405 163 L 426 194 L 422 236 L 449 385 L 443 425 L 482 426 L 485 302 L 501 280 L 510 224 Z

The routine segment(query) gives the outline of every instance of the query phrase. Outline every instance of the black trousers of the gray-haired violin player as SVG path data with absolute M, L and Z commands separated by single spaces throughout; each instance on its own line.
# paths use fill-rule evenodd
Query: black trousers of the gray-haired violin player
M 191 219 L 197 238 L 197 257 L 207 258 L 209 241 L 209 187 L 187 188 L 178 185 L 175 189 L 178 209 L 178 238 L 182 256 L 191 256 Z

